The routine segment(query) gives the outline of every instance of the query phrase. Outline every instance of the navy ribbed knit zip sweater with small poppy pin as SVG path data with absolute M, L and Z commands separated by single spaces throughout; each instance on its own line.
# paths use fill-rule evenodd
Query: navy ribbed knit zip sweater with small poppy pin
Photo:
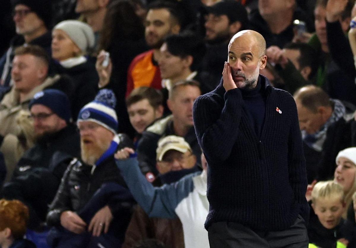
M 195 132 L 208 161 L 205 228 L 219 221 L 253 230 L 278 231 L 300 214 L 308 222 L 307 176 L 297 108 L 286 91 L 260 75 L 266 93 L 265 120 L 258 137 L 241 90 L 225 92 L 223 81 L 197 98 Z

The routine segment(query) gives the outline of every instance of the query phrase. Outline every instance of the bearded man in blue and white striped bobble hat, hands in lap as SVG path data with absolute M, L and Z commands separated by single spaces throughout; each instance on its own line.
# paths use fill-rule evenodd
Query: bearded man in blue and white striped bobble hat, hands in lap
M 134 200 L 113 155 L 132 141 L 116 134 L 115 102 L 112 91 L 101 90 L 79 112 L 82 159 L 70 163 L 50 206 L 47 223 L 57 227 L 51 247 L 120 247 L 124 241 Z

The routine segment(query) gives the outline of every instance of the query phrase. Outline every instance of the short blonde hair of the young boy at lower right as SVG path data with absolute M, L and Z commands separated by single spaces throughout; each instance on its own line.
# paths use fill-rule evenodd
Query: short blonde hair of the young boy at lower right
M 340 198 L 342 203 L 345 202 L 345 193 L 344 188 L 330 180 L 330 181 L 321 181 L 315 184 L 312 191 L 312 202 L 315 204 L 315 201 L 319 198 L 333 198 L 337 196 Z

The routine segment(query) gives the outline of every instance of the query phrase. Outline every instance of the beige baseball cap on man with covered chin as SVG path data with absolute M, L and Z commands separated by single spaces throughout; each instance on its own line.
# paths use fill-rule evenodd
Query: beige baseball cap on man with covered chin
M 183 137 L 176 135 L 168 135 L 158 141 L 156 150 L 157 161 L 162 161 L 164 154 L 169 150 L 176 150 L 182 153 L 192 150 L 187 141 Z

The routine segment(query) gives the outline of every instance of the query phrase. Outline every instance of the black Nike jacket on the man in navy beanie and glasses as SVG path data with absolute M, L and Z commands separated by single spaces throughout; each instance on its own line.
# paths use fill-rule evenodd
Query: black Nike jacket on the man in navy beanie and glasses
M 68 163 L 79 155 L 79 134 L 69 125 L 25 152 L 1 196 L 23 201 L 30 210 L 29 227 L 38 227 L 46 219 L 47 205 L 56 195 Z

